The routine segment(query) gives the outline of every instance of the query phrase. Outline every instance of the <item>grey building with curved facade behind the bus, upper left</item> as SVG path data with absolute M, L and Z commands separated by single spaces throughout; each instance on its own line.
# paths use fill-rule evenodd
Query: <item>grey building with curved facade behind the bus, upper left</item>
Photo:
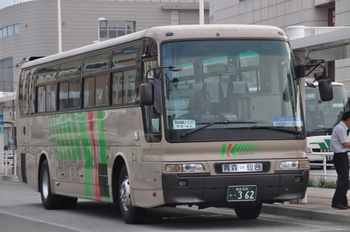
M 199 3 L 199 0 L 32 0 L 5 7 L 0 10 L 0 91 L 15 91 L 19 65 L 26 57 L 47 56 L 60 49 L 66 51 L 153 26 L 198 24 Z M 204 5 L 204 23 L 209 23 L 208 6 Z M 11 107 L 3 106 L 5 116 Z M 2 115 L 1 110 L 0 121 Z M 10 129 L 5 123 L 6 144 L 12 141 L 7 135 Z

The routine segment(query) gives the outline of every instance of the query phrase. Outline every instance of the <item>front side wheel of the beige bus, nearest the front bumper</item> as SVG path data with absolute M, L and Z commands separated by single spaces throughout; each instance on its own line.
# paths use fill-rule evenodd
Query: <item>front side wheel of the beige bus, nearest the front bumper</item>
M 126 224 L 143 223 L 147 209 L 134 207 L 131 204 L 130 182 L 125 165 L 122 167 L 118 184 L 119 210 Z

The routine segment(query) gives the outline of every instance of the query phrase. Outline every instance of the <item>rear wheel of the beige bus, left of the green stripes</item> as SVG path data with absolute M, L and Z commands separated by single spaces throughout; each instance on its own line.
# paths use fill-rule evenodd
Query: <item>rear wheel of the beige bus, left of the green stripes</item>
M 49 165 L 44 160 L 40 169 L 40 195 L 45 209 L 58 209 L 62 203 L 62 197 L 51 192 L 51 178 Z

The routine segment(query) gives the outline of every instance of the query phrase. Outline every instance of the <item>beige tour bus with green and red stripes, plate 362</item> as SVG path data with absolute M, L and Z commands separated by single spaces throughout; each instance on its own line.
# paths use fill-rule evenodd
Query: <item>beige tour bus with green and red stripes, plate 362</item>
M 29 61 L 19 179 L 46 209 L 93 199 L 128 224 L 179 205 L 255 219 L 305 196 L 296 70 L 286 34 L 257 25 L 153 27 Z

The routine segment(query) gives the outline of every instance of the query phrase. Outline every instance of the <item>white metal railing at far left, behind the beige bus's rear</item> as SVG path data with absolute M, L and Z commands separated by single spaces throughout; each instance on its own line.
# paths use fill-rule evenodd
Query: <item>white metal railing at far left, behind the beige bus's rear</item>
M 0 174 L 17 175 L 17 151 L 0 152 Z

